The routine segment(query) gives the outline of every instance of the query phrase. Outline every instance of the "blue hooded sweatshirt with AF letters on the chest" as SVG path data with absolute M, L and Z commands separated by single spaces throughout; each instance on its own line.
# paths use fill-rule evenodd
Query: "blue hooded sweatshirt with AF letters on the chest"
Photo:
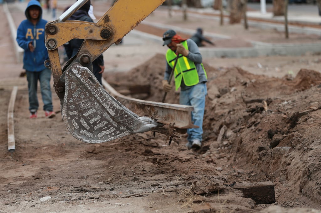
M 29 8 L 38 6 L 40 8 L 39 20 L 36 25 L 30 21 Z M 31 72 L 40 72 L 46 69 L 44 62 L 49 59 L 48 51 L 45 46 L 45 26 L 46 20 L 41 19 L 42 9 L 37 0 L 31 0 L 25 10 L 26 20 L 23 20 L 17 30 L 17 42 L 24 49 L 23 68 Z M 29 43 L 32 41 L 35 50 L 29 50 Z

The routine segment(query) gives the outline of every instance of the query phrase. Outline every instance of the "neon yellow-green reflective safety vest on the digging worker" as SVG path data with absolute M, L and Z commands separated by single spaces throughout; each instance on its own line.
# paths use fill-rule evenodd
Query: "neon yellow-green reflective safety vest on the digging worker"
M 185 49 L 188 50 L 187 41 L 183 41 L 181 44 L 185 47 Z M 166 61 L 169 64 L 169 66 L 172 68 L 174 67 L 176 57 L 177 55 L 175 54 L 174 51 L 172 51 L 171 49 L 167 50 Z M 184 83 L 186 86 L 194 86 L 199 83 L 199 78 L 195 67 L 195 63 L 183 55 L 179 55 L 178 57 L 179 58 L 178 58 L 175 70 L 172 71 L 174 72 L 174 76 L 175 76 L 176 91 L 180 87 L 182 79 L 184 80 Z M 206 76 L 203 63 L 201 64 L 201 66 Z

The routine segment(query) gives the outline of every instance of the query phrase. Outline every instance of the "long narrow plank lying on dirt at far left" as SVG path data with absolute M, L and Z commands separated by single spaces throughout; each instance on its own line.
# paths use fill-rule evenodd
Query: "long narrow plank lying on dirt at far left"
M 18 87 L 14 86 L 11 92 L 11 97 L 8 106 L 8 150 L 13 152 L 16 149 L 15 139 L 14 139 L 14 122 L 13 122 L 13 111 L 14 102 L 16 100 Z

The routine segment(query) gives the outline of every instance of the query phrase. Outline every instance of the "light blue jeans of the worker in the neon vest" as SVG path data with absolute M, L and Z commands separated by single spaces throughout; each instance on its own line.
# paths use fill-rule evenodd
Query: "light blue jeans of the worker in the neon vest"
M 207 95 L 206 83 L 196 84 L 195 86 L 182 90 L 180 92 L 179 104 L 193 106 L 192 122 L 198 128 L 187 129 L 187 140 L 192 143 L 198 139 L 202 141 L 203 137 L 203 118 L 205 110 L 205 96 Z

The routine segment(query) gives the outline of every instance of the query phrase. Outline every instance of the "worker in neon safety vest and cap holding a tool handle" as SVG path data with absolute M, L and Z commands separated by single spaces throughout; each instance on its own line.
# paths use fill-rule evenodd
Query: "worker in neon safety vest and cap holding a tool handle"
M 163 34 L 163 46 L 169 48 L 166 52 L 166 70 L 163 89 L 169 92 L 171 73 L 175 77 L 175 89 L 180 88 L 179 103 L 193 106 L 192 122 L 198 128 L 187 129 L 188 148 L 199 149 L 202 146 L 203 118 L 205 96 L 207 95 L 207 75 L 202 64 L 202 55 L 196 43 L 191 39 L 182 39 L 172 29 Z

